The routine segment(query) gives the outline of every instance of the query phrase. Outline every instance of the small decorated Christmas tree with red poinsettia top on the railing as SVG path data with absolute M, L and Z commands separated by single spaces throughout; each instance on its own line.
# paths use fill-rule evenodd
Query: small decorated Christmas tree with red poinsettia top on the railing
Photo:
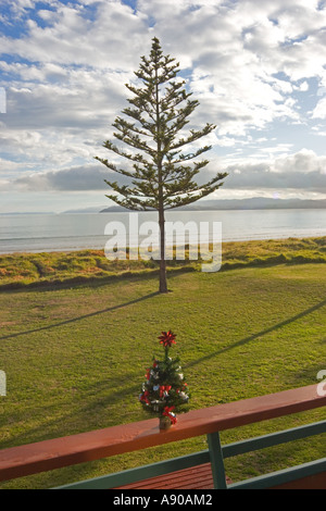
M 160 417 L 160 427 L 166 428 L 176 423 L 175 413 L 188 403 L 188 385 L 179 364 L 179 358 L 168 357 L 176 335 L 171 331 L 162 332 L 159 337 L 164 348 L 164 359 L 153 358 L 153 364 L 147 369 L 147 381 L 142 384 L 139 400 L 145 410 Z

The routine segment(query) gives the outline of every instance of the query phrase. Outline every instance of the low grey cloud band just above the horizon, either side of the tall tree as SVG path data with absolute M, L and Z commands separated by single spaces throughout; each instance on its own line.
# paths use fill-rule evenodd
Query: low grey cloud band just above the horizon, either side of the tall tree
M 211 164 L 211 171 L 213 170 Z M 239 161 L 225 164 L 223 171 L 229 173 L 223 189 L 226 190 L 286 190 L 314 191 L 326 194 L 326 157 L 317 157 L 313 151 L 302 150 L 294 154 L 276 157 L 269 161 Z M 210 178 L 210 172 L 202 178 Z M 102 191 L 110 188 L 104 179 L 122 183 L 115 174 L 101 164 L 79 165 L 32 173 L 11 183 L 20 191 Z M 125 182 L 125 180 L 124 180 Z

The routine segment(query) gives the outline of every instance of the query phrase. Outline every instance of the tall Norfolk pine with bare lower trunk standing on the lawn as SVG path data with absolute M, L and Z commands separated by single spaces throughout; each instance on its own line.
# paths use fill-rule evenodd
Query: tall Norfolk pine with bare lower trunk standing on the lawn
M 159 212 L 160 227 L 160 292 L 167 292 L 165 263 L 164 212 L 173 208 L 190 204 L 220 188 L 227 174 L 218 173 L 204 185 L 193 178 L 209 163 L 198 161 L 198 157 L 209 151 L 211 146 L 193 152 L 183 148 L 196 142 L 216 128 L 206 124 L 202 129 L 190 129 L 184 136 L 183 129 L 188 117 L 199 105 L 190 100 L 191 94 L 184 88 L 185 80 L 175 80 L 179 64 L 170 55 L 163 55 L 158 38 L 152 39 L 149 58 L 141 57 L 139 70 L 135 72 L 142 87 L 126 84 L 134 97 L 128 99 L 131 107 L 117 116 L 113 123 L 113 136 L 133 148 L 131 152 L 106 140 L 103 147 L 118 157 L 133 162 L 133 171 L 118 169 L 114 163 L 96 157 L 108 169 L 131 179 L 129 185 L 104 179 L 117 195 L 108 195 L 124 208 L 136 211 Z M 191 165 L 187 164 L 191 161 Z

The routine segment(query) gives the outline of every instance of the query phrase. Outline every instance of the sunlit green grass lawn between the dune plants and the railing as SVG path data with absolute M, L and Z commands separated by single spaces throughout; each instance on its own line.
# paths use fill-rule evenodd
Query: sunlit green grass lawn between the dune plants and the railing
M 236 248 L 236 247 L 234 247 Z M 147 419 L 138 395 L 161 354 L 158 335 L 177 334 L 192 409 L 316 383 L 326 370 L 326 266 L 244 266 L 173 273 L 156 294 L 151 274 L 0 292 L 0 447 Z M 323 410 L 222 434 L 223 443 L 322 420 Z M 324 441 L 324 445 L 322 444 Z M 177 456 L 206 448 L 178 444 Z M 24 477 L 2 488 L 47 488 L 176 456 L 173 445 Z M 325 456 L 315 437 L 226 461 L 238 481 Z

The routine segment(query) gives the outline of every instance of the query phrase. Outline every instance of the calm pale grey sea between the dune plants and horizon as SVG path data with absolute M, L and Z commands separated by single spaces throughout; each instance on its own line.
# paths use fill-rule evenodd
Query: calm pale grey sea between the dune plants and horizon
M 155 212 L 138 213 L 139 225 L 156 220 Z M 129 232 L 129 213 L 3 214 L 0 253 L 103 249 L 110 238 L 104 234 L 105 226 L 112 222 L 125 225 L 133 245 L 138 233 Z M 326 210 L 317 209 L 171 211 L 166 221 L 192 221 L 198 226 L 201 222 L 221 222 L 222 241 L 326 236 Z

